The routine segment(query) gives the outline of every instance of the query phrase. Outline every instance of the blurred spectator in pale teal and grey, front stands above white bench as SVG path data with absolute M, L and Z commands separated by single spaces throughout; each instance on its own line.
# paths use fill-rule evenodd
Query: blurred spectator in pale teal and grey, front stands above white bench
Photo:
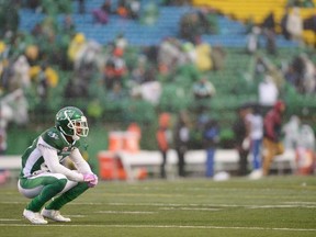
M 192 91 L 196 102 L 196 111 L 201 114 L 207 110 L 211 99 L 216 94 L 215 87 L 206 77 L 202 77 L 193 83 Z

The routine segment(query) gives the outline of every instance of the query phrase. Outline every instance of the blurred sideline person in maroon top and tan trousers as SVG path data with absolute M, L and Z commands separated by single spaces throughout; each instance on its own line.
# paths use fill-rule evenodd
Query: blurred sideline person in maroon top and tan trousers
M 275 156 L 284 153 L 284 145 L 281 140 L 282 123 L 285 104 L 278 100 L 273 108 L 267 113 L 263 121 L 263 156 L 262 174 L 268 176 L 271 162 Z

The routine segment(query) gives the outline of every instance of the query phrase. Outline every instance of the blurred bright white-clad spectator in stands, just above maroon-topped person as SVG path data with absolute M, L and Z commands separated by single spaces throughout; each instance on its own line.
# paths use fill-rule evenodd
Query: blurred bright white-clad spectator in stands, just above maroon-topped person
M 279 89 L 273 78 L 268 74 L 258 84 L 258 98 L 263 114 L 274 105 L 279 98 Z

